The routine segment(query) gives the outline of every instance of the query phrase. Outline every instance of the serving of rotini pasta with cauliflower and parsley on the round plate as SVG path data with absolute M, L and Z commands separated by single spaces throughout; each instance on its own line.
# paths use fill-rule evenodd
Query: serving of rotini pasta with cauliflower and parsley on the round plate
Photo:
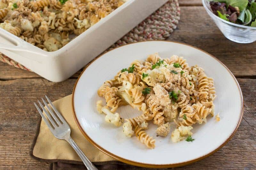
M 149 55 L 146 61 L 135 60 L 129 68 L 120 70 L 116 76 L 103 83 L 98 95 L 106 99 L 97 102 L 101 108 L 110 108 L 115 117 L 110 122 L 123 125 L 127 137 L 136 137 L 148 148 L 155 147 L 155 139 L 146 133 L 148 122 L 156 126 L 156 133 L 166 137 L 170 132 L 169 122 L 177 128 L 172 131 L 172 142 L 186 139 L 192 142 L 193 125 L 206 123 L 208 115 L 214 115 L 213 101 L 216 98 L 213 79 L 195 65 L 188 66 L 183 57 L 173 55 L 162 59 L 157 53 Z M 100 105 L 99 105 L 100 103 Z M 118 107 L 130 105 L 142 111 L 130 119 L 122 119 L 116 112 Z M 114 121 L 114 122 L 113 122 Z

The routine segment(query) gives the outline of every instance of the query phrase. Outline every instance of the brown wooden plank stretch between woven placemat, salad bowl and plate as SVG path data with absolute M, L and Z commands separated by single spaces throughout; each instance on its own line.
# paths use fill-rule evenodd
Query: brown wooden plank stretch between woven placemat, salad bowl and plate
M 180 22 L 169 40 L 203 49 L 217 57 L 235 76 L 256 75 L 256 51 L 252 50 L 256 42 L 238 44 L 229 41 L 202 6 L 181 7 Z

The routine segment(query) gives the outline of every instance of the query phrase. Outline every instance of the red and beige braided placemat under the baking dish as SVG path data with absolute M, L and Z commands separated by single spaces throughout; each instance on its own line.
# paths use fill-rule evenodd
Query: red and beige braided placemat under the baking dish
M 176 28 L 179 20 L 180 7 L 178 0 L 170 0 L 151 14 L 148 18 L 142 21 L 138 26 L 133 28 L 129 33 L 124 35 L 124 37 L 108 48 L 107 51 L 132 42 L 145 40 L 165 40 Z M 0 61 L 16 68 L 31 71 L 2 53 L 0 53 Z

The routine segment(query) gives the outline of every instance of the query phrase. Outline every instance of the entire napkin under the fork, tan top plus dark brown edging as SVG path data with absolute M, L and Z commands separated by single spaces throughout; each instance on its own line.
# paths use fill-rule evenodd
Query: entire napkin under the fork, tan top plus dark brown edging
M 72 95 L 66 96 L 54 101 L 53 104 L 68 122 L 73 140 L 98 169 L 146 169 L 117 161 L 88 142 L 74 120 L 71 108 L 71 97 Z M 33 141 L 30 155 L 39 161 L 51 163 L 50 169 L 86 169 L 83 162 L 68 142 L 54 137 L 41 118 L 37 125 L 36 137 Z

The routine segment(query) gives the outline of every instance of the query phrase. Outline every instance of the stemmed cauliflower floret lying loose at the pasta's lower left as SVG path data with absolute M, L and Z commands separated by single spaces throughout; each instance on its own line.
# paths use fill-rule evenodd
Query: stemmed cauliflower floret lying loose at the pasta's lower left
M 107 106 L 103 107 L 102 112 L 106 114 L 105 121 L 114 124 L 115 126 L 121 126 L 124 120 L 120 117 L 119 113 L 113 114 L 110 112 Z

